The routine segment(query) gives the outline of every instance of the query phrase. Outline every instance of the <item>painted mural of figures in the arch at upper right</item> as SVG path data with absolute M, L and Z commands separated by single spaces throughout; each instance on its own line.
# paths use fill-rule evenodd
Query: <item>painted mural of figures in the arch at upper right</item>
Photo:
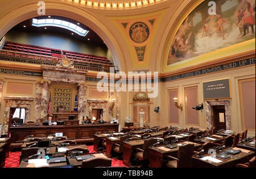
M 209 2 L 215 2 L 216 8 Z M 181 24 L 167 65 L 254 38 L 255 0 L 207 0 Z

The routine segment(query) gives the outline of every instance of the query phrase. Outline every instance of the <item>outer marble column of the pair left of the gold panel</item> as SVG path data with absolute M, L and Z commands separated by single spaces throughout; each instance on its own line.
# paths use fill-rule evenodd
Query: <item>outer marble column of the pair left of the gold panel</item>
M 41 103 L 42 103 L 42 84 L 36 82 L 36 97 L 35 97 L 35 123 L 40 123 L 41 119 Z

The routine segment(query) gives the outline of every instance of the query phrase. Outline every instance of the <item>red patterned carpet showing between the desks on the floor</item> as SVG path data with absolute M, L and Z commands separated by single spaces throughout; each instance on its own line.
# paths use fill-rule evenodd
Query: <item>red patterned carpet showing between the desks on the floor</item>
M 90 153 L 95 152 L 93 145 L 87 146 Z M 5 168 L 18 168 L 19 167 L 20 152 L 10 152 L 9 157 L 5 160 Z M 112 159 L 112 166 L 125 166 L 122 160 Z

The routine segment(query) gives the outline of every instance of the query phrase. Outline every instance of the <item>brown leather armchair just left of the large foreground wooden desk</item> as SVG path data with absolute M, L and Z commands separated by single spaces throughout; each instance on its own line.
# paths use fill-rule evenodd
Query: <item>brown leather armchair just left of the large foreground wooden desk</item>
M 155 144 L 157 142 L 158 142 L 158 139 L 155 139 L 155 138 L 144 140 L 143 149 L 137 148 L 137 153 L 135 154 L 135 157 L 139 160 L 147 160 L 149 156 L 148 147 L 150 147 L 150 145 Z

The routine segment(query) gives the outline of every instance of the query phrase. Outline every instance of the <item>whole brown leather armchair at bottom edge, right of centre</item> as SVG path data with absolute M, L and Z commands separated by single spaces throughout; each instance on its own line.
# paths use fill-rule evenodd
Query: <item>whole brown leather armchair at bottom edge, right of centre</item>
M 167 168 L 191 168 L 192 167 L 192 155 L 194 152 L 194 144 L 181 145 L 177 153 L 177 158 L 168 156 L 166 164 Z

